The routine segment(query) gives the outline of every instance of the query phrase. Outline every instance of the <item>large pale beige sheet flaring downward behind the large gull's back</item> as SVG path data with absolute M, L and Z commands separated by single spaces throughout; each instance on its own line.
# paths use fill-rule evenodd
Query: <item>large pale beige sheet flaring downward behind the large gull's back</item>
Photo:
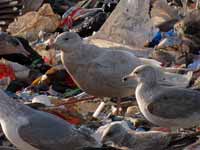
M 150 1 L 147 0 L 120 1 L 94 38 L 143 48 L 157 31 L 149 9 Z

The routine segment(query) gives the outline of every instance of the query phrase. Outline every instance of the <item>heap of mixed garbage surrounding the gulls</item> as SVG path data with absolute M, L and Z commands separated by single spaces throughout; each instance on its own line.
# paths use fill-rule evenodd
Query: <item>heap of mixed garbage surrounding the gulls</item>
M 2 0 L 0 87 L 18 103 L 65 120 L 107 149 L 198 150 L 198 126 L 174 133 L 152 124 L 134 92 L 120 98 L 120 108 L 116 97 L 87 94 L 63 66 L 54 41 L 75 32 L 88 44 L 129 51 L 144 64 L 170 70 L 176 74 L 174 86 L 199 91 L 199 7 L 198 0 Z M 84 72 L 80 76 L 88 79 Z M 15 146 L 2 130 L 0 149 Z

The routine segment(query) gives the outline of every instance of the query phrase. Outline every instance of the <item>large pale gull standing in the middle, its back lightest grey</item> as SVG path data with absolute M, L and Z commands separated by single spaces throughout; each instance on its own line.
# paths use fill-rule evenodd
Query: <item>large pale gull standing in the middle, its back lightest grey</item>
M 132 80 L 123 83 L 121 78 L 139 65 L 152 63 L 137 58 L 129 51 L 86 44 L 72 32 L 60 34 L 55 45 L 62 50 L 62 62 L 77 85 L 88 94 L 99 97 L 133 95 L 137 82 Z M 163 80 L 163 76 L 160 79 Z M 174 83 L 173 80 L 171 84 Z

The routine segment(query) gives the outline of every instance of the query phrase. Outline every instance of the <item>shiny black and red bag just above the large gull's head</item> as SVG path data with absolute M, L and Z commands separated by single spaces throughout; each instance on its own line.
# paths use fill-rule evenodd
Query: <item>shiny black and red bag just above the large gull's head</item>
M 79 33 L 80 36 L 86 37 L 92 35 L 94 31 L 105 22 L 107 16 L 103 9 L 83 9 L 72 7 L 63 15 L 61 27 L 64 31 L 71 30 Z

